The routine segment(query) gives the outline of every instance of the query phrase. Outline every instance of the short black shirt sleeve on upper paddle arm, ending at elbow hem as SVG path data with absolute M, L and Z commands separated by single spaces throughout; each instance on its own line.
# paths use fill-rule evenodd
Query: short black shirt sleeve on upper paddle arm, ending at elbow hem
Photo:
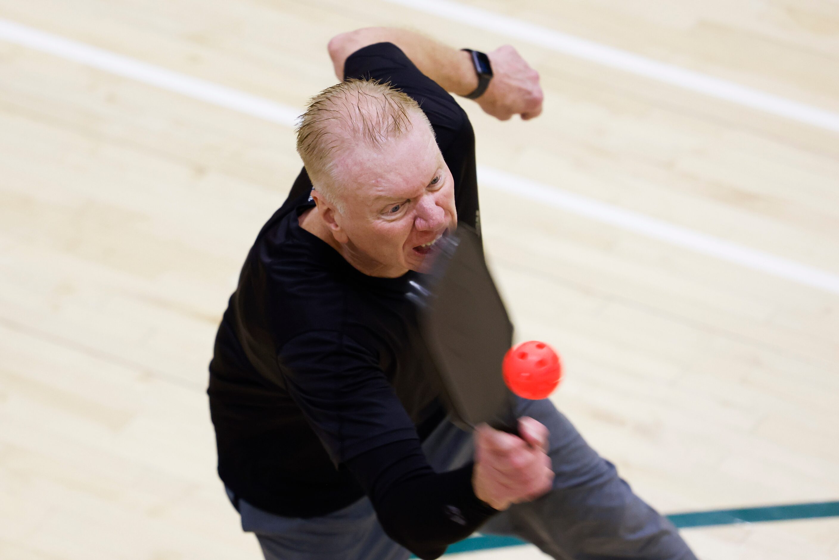
M 279 363 L 291 398 L 336 465 L 391 442 L 419 445 L 378 357 L 346 334 L 301 334 L 283 345 Z

